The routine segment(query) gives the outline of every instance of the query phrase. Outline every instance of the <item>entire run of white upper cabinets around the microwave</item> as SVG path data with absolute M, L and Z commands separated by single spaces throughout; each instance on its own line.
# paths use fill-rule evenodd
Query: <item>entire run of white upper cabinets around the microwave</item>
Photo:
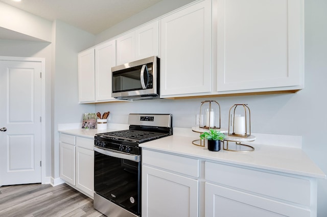
M 194 1 L 96 46 L 96 55 L 81 52 L 79 102 L 114 100 L 109 69 L 151 56 L 160 58 L 162 98 L 296 92 L 303 8 L 303 0 Z

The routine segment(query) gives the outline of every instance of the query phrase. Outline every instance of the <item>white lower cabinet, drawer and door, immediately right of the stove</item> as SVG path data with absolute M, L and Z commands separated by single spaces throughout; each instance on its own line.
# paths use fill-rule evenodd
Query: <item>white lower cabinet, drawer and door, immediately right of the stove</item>
M 197 159 L 143 150 L 142 216 L 199 216 L 199 181 L 179 170 L 190 162 L 198 174 Z

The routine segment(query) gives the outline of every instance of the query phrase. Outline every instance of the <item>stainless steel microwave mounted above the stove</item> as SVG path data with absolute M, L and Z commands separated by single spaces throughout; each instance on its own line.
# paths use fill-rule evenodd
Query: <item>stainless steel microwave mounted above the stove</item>
M 112 67 L 111 96 L 125 100 L 159 98 L 159 71 L 156 56 Z

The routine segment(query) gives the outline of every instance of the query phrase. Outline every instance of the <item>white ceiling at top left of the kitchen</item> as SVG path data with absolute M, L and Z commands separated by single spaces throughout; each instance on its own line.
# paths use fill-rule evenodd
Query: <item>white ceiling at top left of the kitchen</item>
M 162 0 L 0 0 L 5 4 L 94 35 Z

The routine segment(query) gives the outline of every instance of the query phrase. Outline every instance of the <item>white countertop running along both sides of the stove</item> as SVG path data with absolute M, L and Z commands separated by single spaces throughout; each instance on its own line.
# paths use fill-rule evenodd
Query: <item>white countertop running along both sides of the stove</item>
M 59 130 L 59 132 L 93 139 L 96 133 L 123 129 L 128 129 L 128 127 L 126 128 L 126 125 L 121 125 L 119 127 L 115 126 L 115 129 L 105 130 L 62 129 Z M 192 144 L 192 141 L 199 139 L 199 134 L 190 133 L 183 136 L 185 130 L 179 131 L 179 129 L 175 130 L 174 128 L 174 135 L 142 143 L 139 146 L 157 151 L 188 155 L 191 157 L 226 162 L 240 166 L 326 179 L 326 175 L 314 164 L 302 149 L 298 147 L 262 145 L 265 143 L 247 143 L 248 145 L 253 146 L 255 150 L 245 153 L 231 152 L 223 150 L 221 147 L 221 150 L 218 152 L 209 151 L 207 147 L 200 147 Z M 292 139 L 294 140 L 294 138 Z M 287 137 L 285 140 L 287 141 Z

